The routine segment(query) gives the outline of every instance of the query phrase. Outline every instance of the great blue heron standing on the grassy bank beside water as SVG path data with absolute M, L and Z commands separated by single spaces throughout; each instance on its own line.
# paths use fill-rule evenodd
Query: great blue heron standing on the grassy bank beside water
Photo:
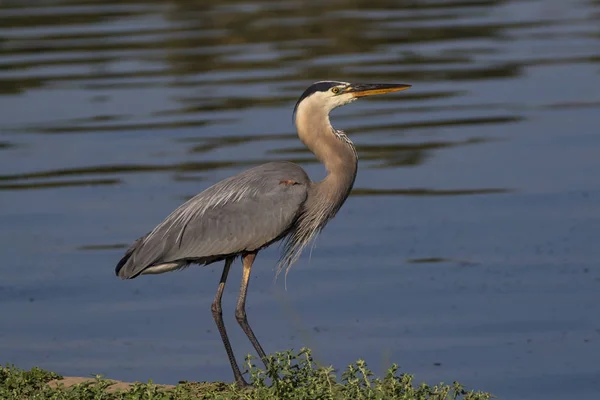
M 291 162 L 259 165 L 222 180 L 177 208 L 147 235 L 136 240 L 119 261 L 121 279 L 160 274 L 225 260 L 212 314 L 225 345 L 235 381 L 240 373 L 227 337 L 221 296 L 231 264 L 242 258 L 243 273 L 235 317 L 265 366 L 267 356 L 246 319 L 246 292 L 256 254 L 279 240 L 284 251 L 279 271 L 289 268 L 302 249 L 335 216 L 356 178 L 358 156 L 344 132 L 331 126 L 329 112 L 359 97 L 408 89 L 403 84 L 312 84 L 294 108 L 300 140 L 325 165 L 327 176 L 312 182 Z

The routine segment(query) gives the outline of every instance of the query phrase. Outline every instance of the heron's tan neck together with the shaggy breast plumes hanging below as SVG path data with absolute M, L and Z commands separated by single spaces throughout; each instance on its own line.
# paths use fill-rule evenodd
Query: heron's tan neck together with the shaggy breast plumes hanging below
M 358 167 L 358 156 L 350 139 L 334 129 L 329 110 L 301 104 L 296 114 L 300 140 L 325 165 L 327 176 L 313 182 L 295 229 L 285 241 L 278 273 L 296 261 L 304 247 L 335 216 L 352 190 Z

